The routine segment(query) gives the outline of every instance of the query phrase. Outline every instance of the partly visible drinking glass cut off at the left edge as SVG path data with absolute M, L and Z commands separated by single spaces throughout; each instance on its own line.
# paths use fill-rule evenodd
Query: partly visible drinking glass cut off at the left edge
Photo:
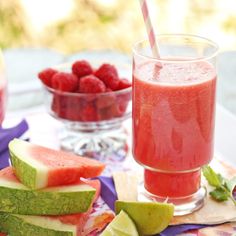
M 0 126 L 3 122 L 6 108 L 6 78 L 3 55 L 0 49 Z

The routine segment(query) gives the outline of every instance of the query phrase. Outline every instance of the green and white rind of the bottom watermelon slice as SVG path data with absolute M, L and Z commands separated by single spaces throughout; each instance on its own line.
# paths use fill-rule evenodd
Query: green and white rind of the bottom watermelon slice
M 0 231 L 11 236 L 76 236 L 76 229 L 50 217 L 0 212 Z

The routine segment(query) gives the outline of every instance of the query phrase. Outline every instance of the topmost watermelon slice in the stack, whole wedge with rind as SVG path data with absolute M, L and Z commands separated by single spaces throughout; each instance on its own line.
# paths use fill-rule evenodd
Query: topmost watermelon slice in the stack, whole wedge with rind
M 11 163 L 20 181 L 32 189 L 75 183 L 101 174 L 105 165 L 89 158 L 14 139 L 9 143 Z

